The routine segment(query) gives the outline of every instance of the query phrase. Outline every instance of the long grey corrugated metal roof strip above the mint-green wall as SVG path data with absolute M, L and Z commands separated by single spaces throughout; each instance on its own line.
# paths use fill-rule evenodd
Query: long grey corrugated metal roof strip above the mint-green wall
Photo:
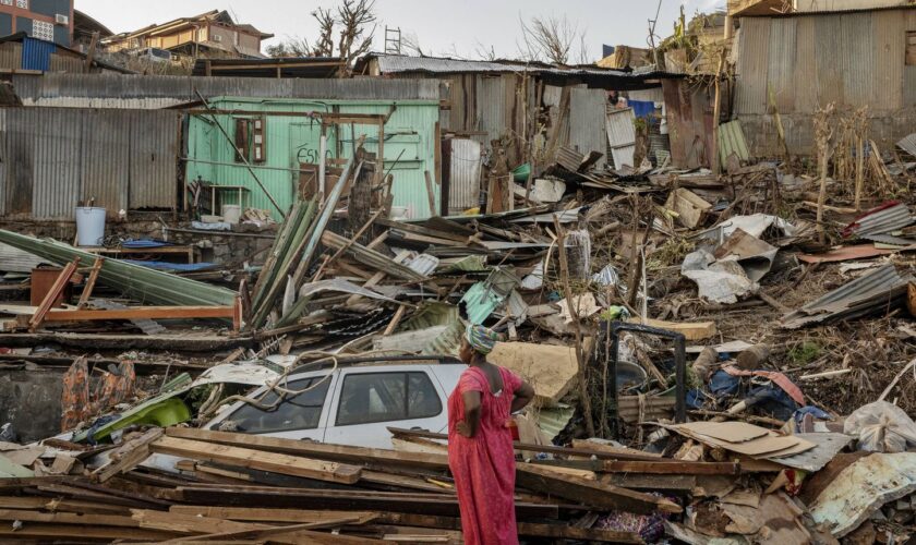
M 123 74 L 14 74 L 24 104 L 95 108 L 161 108 L 205 97 L 438 100 L 436 80 L 269 80 Z

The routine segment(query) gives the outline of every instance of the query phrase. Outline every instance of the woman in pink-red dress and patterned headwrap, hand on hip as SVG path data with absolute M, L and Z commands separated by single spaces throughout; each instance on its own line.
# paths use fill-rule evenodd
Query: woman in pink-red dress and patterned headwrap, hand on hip
M 518 375 L 486 361 L 496 334 L 469 326 L 458 356 L 469 365 L 448 398 L 448 465 L 467 545 L 518 544 L 511 413 L 534 398 Z

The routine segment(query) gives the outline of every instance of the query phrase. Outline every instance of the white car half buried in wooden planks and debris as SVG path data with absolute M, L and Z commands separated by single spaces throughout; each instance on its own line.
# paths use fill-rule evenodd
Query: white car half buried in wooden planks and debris
M 466 368 L 437 356 L 343 360 L 337 368 L 291 373 L 282 388 L 314 387 L 269 410 L 237 401 L 203 427 L 390 449 L 388 427 L 447 432 L 448 396 Z M 248 397 L 272 407 L 278 396 L 265 386 Z

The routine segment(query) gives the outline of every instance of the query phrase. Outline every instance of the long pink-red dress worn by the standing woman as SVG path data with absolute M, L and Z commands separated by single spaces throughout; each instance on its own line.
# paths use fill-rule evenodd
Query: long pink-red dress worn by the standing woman
M 469 367 L 448 398 L 448 465 L 461 508 L 467 545 L 518 544 L 515 517 L 515 451 L 507 427 L 514 392 L 521 378 L 499 367 L 503 390 L 494 395 L 483 371 Z M 481 392 L 478 433 L 468 438 L 456 431 L 465 420 L 467 391 Z

